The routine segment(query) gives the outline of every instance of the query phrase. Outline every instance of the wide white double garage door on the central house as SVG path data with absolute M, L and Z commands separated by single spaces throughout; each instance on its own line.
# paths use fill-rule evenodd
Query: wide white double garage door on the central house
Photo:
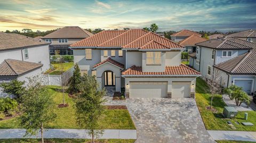
M 130 82 L 130 98 L 167 96 L 167 82 Z

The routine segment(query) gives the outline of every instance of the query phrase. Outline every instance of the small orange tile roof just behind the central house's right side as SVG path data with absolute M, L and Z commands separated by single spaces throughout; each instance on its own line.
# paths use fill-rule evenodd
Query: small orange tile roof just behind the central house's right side
M 195 46 L 196 43 L 200 43 L 202 41 L 206 41 L 207 39 L 202 38 L 201 36 L 197 36 L 197 35 L 191 35 L 186 39 L 183 39 L 181 41 L 179 41 L 179 44 L 182 46 Z

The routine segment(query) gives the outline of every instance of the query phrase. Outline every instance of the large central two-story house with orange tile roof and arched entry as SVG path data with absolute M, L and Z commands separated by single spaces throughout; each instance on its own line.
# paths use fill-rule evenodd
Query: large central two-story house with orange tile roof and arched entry
M 181 64 L 184 47 L 145 30 L 106 30 L 70 45 L 83 74 L 126 98 L 195 97 L 200 73 Z

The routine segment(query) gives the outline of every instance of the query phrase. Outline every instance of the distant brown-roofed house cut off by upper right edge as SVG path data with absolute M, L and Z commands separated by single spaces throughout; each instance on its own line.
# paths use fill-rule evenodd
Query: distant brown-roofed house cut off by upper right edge
M 228 35 L 228 37 L 236 37 L 242 40 L 251 41 L 256 43 L 256 30 L 248 29 L 245 31 L 237 32 Z

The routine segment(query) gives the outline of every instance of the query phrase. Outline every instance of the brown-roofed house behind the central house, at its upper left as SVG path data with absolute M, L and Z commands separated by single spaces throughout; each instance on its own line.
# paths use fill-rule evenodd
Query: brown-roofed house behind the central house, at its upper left
M 41 39 L 51 43 L 50 55 L 73 55 L 73 51 L 68 48 L 69 45 L 92 35 L 80 27 L 68 26 L 41 37 Z

